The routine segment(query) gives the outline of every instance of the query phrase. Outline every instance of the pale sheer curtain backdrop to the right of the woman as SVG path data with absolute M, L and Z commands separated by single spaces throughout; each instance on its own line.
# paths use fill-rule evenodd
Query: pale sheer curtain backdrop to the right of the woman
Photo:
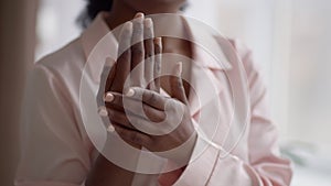
M 273 116 L 281 136 L 328 149 L 331 2 L 191 0 L 191 4 L 190 15 L 253 50 L 269 87 Z

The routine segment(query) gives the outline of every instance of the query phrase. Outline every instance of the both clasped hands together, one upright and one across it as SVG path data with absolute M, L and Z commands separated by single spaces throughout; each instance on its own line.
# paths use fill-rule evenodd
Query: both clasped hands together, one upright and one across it
M 169 77 L 171 96 L 161 95 L 161 54 L 162 41 L 154 39 L 150 18 L 138 13 L 125 23 L 118 58 L 107 59 L 102 75 L 106 85 L 98 91 L 99 113 L 108 117 L 111 125 L 107 128 L 138 149 L 163 152 L 193 139 L 188 152 L 180 153 L 190 158 L 196 133 L 181 79 L 182 64 L 173 65 L 173 76 Z

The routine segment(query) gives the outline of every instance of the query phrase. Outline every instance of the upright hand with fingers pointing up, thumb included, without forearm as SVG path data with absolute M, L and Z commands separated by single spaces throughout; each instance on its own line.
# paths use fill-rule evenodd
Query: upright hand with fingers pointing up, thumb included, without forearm
M 143 41 L 143 39 L 147 40 Z M 130 86 L 160 91 L 160 80 L 157 77 L 161 70 L 161 55 L 159 55 L 161 51 L 161 39 L 153 39 L 151 19 L 145 19 L 142 13 L 138 13 L 132 22 L 125 23 L 119 36 L 119 57 L 117 62 L 107 58 L 102 75 L 102 81 L 106 81 L 106 86 L 100 86 L 97 101 L 103 119 L 108 114 L 106 108 L 103 107 L 104 101 L 114 99 L 113 95 L 107 94 L 108 91 L 122 94 Z M 119 108 L 110 107 L 109 109 L 118 110 Z M 110 116 L 109 120 L 111 123 L 118 122 L 114 121 Z

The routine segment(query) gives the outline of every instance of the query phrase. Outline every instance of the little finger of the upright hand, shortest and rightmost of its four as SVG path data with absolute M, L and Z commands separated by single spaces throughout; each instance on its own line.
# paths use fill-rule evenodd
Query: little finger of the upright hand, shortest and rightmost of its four
M 161 83 L 161 54 L 162 54 L 162 37 L 154 39 L 154 69 L 153 69 L 153 83 L 156 86 L 156 91 L 160 92 Z

